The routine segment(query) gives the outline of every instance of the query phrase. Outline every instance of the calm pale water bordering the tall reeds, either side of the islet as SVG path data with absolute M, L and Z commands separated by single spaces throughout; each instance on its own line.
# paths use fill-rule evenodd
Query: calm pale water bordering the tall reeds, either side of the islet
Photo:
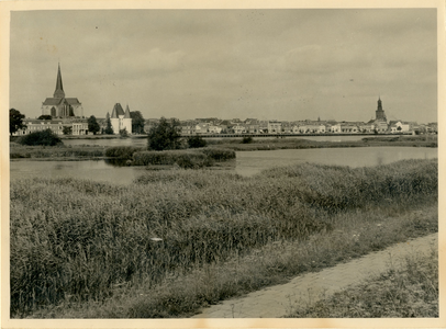
M 358 147 L 323 149 L 283 149 L 236 152 L 234 169 L 242 175 L 253 175 L 278 166 L 303 162 L 349 166 L 353 168 L 386 164 L 403 159 L 437 158 L 436 148 L 424 147 Z M 20 178 L 82 178 L 99 182 L 130 184 L 144 173 L 142 167 L 113 167 L 105 161 L 31 161 L 10 162 L 11 180 Z

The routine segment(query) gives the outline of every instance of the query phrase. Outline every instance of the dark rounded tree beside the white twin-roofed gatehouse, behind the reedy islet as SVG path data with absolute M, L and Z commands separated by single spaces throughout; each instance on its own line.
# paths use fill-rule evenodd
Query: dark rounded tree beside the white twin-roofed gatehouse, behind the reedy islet
M 164 150 L 178 149 L 181 147 L 181 135 L 179 133 L 180 123 L 172 118 L 167 121 L 165 117 L 154 125 L 148 132 L 148 149 Z

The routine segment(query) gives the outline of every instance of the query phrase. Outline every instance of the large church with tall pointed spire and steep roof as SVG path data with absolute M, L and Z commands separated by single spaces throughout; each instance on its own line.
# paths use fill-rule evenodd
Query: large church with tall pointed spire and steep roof
M 47 98 L 42 103 L 42 115 L 55 117 L 82 117 L 82 104 L 77 98 L 66 98 L 62 83 L 60 65 L 57 70 L 56 90 L 53 98 Z

